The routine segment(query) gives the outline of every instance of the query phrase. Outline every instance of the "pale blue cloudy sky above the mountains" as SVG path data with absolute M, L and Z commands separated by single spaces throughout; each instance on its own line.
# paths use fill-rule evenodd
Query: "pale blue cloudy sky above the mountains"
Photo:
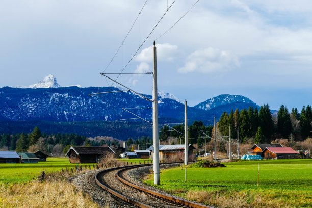
M 61 86 L 111 86 L 100 72 L 152 71 L 156 40 L 158 90 L 190 106 L 220 94 L 275 110 L 312 105 L 312 1 L 200 0 L 163 36 L 197 0 L 149 0 L 140 13 L 145 1 L 0 0 L 0 87 L 48 74 Z M 152 93 L 150 74 L 117 81 Z

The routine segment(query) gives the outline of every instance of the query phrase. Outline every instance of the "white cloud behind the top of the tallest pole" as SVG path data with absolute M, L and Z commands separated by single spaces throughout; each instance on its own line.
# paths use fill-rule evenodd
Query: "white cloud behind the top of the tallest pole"
M 173 61 L 177 53 L 178 47 L 169 43 L 156 44 L 157 47 L 157 61 Z M 135 58 L 139 62 L 152 62 L 153 60 L 153 46 L 144 48 L 140 54 Z

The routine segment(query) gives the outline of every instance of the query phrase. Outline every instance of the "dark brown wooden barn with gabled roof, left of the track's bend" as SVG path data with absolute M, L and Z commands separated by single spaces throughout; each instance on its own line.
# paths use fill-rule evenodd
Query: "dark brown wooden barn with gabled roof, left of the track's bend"
M 97 163 L 106 154 L 115 154 L 110 147 L 70 147 L 65 156 L 70 163 Z

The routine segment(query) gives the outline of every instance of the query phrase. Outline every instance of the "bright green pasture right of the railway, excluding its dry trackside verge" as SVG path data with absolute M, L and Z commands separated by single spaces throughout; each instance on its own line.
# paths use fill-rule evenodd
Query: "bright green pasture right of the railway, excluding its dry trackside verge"
M 160 186 L 173 194 L 185 196 L 190 190 L 212 193 L 253 192 L 273 198 L 301 200 L 303 206 L 312 205 L 312 159 L 262 160 L 222 163 L 225 168 L 185 167 L 161 170 Z M 259 187 L 257 175 L 259 164 Z M 150 175 L 145 183 L 153 186 Z M 309 205 L 306 205 L 309 204 Z M 301 204 L 302 205 L 302 204 Z

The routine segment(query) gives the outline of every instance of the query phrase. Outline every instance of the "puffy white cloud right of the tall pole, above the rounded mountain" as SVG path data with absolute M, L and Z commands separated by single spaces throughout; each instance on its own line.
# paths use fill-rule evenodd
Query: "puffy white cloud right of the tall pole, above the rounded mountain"
M 196 50 L 190 54 L 184 67 L 179 68 L 178 71 L 180 73 L 214 73 L 239 66 L 238 58 L 229 51 L 209 47 L 203 50 Z

